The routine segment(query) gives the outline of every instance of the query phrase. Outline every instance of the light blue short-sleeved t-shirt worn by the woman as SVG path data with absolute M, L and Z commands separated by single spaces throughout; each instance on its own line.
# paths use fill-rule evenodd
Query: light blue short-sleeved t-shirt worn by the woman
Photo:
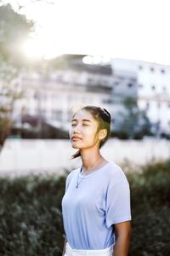
M 80 170 L 66 178 L 61 202 L 65 235 L 72 248 L 105 249 L 115 243 L 112 224 L 131 220 L 127 177 L 112 161 L 86 176 Z

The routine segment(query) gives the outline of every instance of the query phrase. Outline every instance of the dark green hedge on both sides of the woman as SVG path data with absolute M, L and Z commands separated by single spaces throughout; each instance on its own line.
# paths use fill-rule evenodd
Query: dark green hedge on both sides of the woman
M 62 255 L 61 200 L 65 177 L 0 179 L 0 255 Z M 170 247 L 170 160 L 127 172 L 133 236 L 130 256 L 168 256 Z

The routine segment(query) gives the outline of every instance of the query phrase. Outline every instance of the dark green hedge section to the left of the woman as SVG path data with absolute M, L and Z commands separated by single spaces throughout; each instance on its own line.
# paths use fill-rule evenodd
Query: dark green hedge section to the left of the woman
M 0 255 L 61 255 L 64 177 L 0 180 Z

